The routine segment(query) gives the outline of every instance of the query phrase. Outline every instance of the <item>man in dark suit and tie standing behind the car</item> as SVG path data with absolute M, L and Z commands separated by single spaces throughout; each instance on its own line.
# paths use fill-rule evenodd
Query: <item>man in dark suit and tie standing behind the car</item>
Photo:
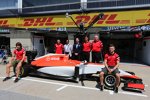
M 73 45 L 73 59 L 81 60 L 81 52 L 82 52 L 82 45 L 80 44 L 79 38 L 76 38 L 75 44 Z

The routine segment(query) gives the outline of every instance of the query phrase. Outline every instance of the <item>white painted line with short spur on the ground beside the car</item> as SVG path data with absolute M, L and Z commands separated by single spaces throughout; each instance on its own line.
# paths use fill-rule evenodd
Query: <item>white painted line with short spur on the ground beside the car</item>
M 4 77 L 0 77 L 0 78 L 3 79 Z M 14 78 L 12 78 L 12 79 L 14 79 Z M 41 81 L 41 80 L 30 79 L 30 78 L 22 78 L 21 80 L 32 81 L 32 82 L 37 82 L 37 83 L 61 85 L 62 87 L 58 88 L 56 91 L 61 91 L 62 89 L 66 88 L 66 87 L 73 87 L 73 88 L 80 88 L 80 89 L 88 89 L 88 90 L 100 91 L 99 89 L 92 88 L 92 87 L 85 87 L 85 86 L 69 85 L 69 84 L 56 83 L 56 82 Z M 110 95 L 114 94 L 114 92 L 110 91 L 110 90 L 104 90 L 104 91 L 105 92 L 109 92 Z M 122 92 L 122 91 L 119 91 L 118 93 L 119 94 L 125 94 L 125 95 L 139 96 L 139 97 L 148 97 L 147 95 L 144 95 L 144 94 L 132 93 L 132 92 Z

